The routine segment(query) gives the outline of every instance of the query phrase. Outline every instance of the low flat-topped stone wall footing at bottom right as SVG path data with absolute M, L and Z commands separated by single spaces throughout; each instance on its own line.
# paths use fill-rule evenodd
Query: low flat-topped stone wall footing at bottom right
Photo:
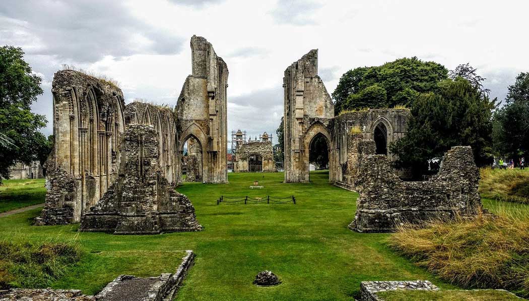
M 383 301 L 377 296 L 381 291 L 389 290 L 439 290 L 428 280 L 416 281 L 362 281 L 360 282 L 360 301 Z

